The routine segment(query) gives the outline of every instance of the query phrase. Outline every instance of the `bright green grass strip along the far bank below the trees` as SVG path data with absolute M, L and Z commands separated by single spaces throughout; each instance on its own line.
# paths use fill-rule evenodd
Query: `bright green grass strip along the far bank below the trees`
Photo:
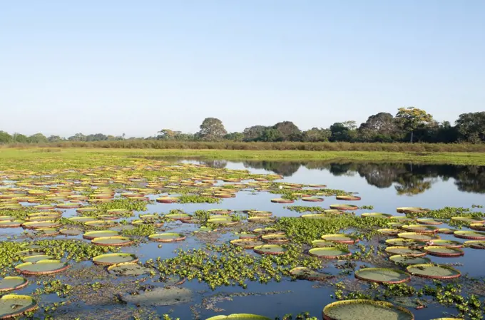
M 302 150 L 170 150 L 88 148 L 0 148 L 2 167 L 36 166 L 40 158 L 63 158 L 66 167 L 88 167 L 112 158 L 118 165 L 136 162 L 133 157 L 174 157 L 225 160 L 351 160 L 366 162 L 416 162 L 450 165 L 485 165 L 482 153 L 302 151 Z M 83 161 L 84 159 L 84 161 Z M 23 160 L 19 162 L 19 160 Z M 88 161 L 89 160 L 89 161 Z M 44 163 L 48 165 L 48 163 Z M 59 165 L 59 164 L 57 164 Z M 57 166 L 58 168 L 58 166 Z M 46 169 L 48 169 L 46 167 Z

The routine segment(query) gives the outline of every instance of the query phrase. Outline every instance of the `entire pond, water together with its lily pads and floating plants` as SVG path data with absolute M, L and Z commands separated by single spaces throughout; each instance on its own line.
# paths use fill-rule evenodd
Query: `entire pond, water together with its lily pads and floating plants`
M 483 319 L 483 167 L 166 155 L 0 150 L 0 319 Z

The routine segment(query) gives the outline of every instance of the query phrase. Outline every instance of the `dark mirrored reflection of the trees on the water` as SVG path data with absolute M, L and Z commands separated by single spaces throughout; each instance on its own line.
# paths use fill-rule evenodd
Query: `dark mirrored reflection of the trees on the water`
M 155 158 L 176 160 L 175 158 Z M 193 160 L 193 159 L 191 159 Z M 462 192 L 485 193 L 485 167 L 474 165 L 417 165 L 399 162 L 349 162 L 349 161 L 267 161 L 267 160 L 195 160 L 201 165 L 224 168 L 228 163 L 242 163 L 248 169 L 261 169 L 291 177 L 300 168 L 325 170 L 335 176 L 363 177 L 369 185 L 387 189 L 394 187 L 398 195 L 418 195 L 429 190 L 434 182 L 454 180 Z

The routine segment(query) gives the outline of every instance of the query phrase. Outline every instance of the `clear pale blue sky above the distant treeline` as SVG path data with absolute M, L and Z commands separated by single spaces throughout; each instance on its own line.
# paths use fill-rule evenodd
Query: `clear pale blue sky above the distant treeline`
M 0 130 L 302 129 L 414 105 L 484 110 L 483 0 L 0 4 Z

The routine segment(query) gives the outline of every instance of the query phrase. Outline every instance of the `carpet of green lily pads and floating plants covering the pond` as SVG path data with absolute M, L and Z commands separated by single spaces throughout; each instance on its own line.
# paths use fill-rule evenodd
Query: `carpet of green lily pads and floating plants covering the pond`
M 426 256 L 452 258 L 463 256 L 464 247 L 485 249 L 485 220 L 480 212 L 398 207 L 398 215 L 356 215 L 359 207 L 354 202 L 361 197 L 352 192 L 276 181 L 281 178 L 146 160 L 78 169 L 0 171 L 0 229 L 21 230 L 0 242 L 0 319 L 27 314 L 38 306 L 34 296 L 11 291 L 28 287 L 34 277 L 66 273 L 81 261 L 106 266 L 106 274 L 116 277 L 175 276 L 174 286 L 197 280 L 216 289 L 247 287 L 252 281 L 280 282 L 284 277 L 328 282 L 339 277 L 325 272 L 328 264 L 366 261 L 375 254 L 394 267 L 362 267 L 354 277 L 366 283 L 402 284 L 413 277 L 461 276 L 458 269 L 432 263 Z M 295 210 L 299 217 L 255 209 L 164 208 L 219 204 L 239 192 L 280 195 L 270 200 L 276 204 L 302 200 L 321 205 L 329 197 L 341 203 L 299 206 Z M 149 206 L 165 213 L 146 212 Z M 182 225 L 193 227 L 193 232 L 171 230 Z M 441 239 L 439 234 L 453 234 L 456 239 Z M 144 262 L 134 253 L 123 252 L 141 243 L 161 246 L 188 237 L 207 241 L 204 237 L 212 239 L 212 235 L 229 239 Z M 369 244 L 372 239 L 380 240 L 379 248 Z M 362 314 L 365 319 L 414 319 L 401 306 L 369 299 L 336 301 L 323 309 L 324 319 L 355 320 L 362 319 Z M 210 319 L 267 318 L 236 314 Z

